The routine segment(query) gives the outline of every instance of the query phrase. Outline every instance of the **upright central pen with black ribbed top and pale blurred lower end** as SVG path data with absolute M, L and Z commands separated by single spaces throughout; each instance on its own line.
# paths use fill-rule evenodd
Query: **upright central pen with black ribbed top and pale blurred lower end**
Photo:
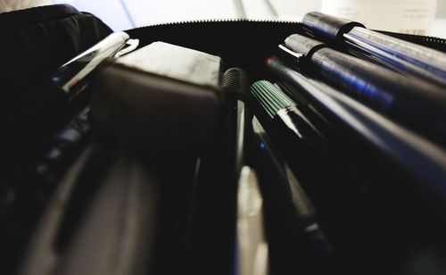
M 247 138 L 251 133 L 248 112 L 249 80 L 240 68 L 223 74 L 222 90 L 229 109 L 229 150 L 236 190 L 235 274 L 268 274 L 268 241 L 263 224 L 263 197 L 255 171 L 246 165 Z

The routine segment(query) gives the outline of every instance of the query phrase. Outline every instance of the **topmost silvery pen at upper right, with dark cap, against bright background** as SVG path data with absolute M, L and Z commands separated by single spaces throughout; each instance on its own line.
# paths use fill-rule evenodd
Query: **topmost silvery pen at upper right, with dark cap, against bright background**
M 446 87 L 446 54 L 426 46 L 366 29 L 358 22 L 320 12 L 307 13 L 302 23 L 306 29 L 329 42 L 341 44 L 371 59 Z

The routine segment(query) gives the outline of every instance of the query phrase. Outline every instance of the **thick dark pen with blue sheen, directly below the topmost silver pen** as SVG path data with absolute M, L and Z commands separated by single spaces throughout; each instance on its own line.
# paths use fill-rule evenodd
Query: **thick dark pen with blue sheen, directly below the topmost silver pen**
M 301 35 L 287 37 L 279 51 L 302 71 L 314 73 L 376 111 L 444 143 L 446 93 L 442 88 L 406 78 Z

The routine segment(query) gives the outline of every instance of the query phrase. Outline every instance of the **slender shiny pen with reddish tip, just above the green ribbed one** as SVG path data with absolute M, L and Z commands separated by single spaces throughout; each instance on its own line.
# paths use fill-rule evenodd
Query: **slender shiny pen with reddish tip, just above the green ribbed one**
M 293 93 L 305 96 L 343 131 L 383 154 L 395 169 L 403 171 L 401 175 L 418 183 L 417 189 L 446 206 L 446 152 L 442 147 L 335 88 L 309 79 L 278 58 L 268 59 L 268 69 L 293 87 Z

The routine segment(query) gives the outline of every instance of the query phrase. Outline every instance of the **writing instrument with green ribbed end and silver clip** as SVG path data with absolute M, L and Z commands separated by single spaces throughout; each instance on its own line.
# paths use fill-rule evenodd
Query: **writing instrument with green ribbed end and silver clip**
M 270 137 L 277 141 L 277 147 L 301 182 L 320 195 L 316 187 L 325 187 L 338 173 L 332 165 L 326 137 L 293 99 L 272 83 L 257 81 L 252 84 L 251 92 L 259 104 L 256 116 L 265 123 Z

